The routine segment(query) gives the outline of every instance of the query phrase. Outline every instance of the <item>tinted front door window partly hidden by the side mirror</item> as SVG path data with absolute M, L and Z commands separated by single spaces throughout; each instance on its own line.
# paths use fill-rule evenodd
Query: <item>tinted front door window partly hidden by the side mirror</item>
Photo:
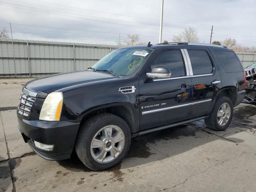
M 180 50 L 169 50 L 160 53 L 151 64 L 154 67 L 166 67 L 171 70 L 171 77 L 185 76 L 184 63 Z

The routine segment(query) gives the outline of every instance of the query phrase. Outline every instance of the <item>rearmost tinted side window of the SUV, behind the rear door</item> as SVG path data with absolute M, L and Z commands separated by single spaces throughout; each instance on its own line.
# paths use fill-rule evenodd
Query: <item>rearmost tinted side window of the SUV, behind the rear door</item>
M 230 51 L 214 51 L 225 72 L 240 72 L 243 68 L 236 54 Z

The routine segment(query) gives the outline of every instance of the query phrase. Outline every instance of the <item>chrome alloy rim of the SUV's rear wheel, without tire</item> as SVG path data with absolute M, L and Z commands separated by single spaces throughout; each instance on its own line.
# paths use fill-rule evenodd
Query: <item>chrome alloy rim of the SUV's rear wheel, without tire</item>
M 228 123 L 231 115 L 231 107 L 228 103 L 223 103 L 217 114 L 217 122 L 220 126 L 225 126 Z

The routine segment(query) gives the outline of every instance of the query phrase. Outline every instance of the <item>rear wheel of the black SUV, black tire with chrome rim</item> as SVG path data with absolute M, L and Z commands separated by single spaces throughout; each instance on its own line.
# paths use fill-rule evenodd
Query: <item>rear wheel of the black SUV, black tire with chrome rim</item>
M 218 114 L 218 111 L 222 109 L 221 108 L 222 105 L 228 106 L 227 104 L 230 107 L 230 117 L 228 118 L 228 120 L 223 120 L 223 122 L 225 121 L 224 124 L 220 125 L 220 123 L 218 123 L 218 120 L 220 120 L 220 118 L 222 118 L 222 117 L 219 116 L 217 118 L 217 114 Z M 233 103 L 230 100 L 230 98 L 225 97 L 225 96 L 220 96 L 217 98 L 209 117 L 204 119 L 204 122 L 205 122 L 206 126 L 208 126 L 212 130 L 224 131 L 230 125 L 230 122 L 233 117 L 233 110 L 234 110 L 234 106 L 233 106 Z M 224 110 L 222 110 L 222 111 L 224 112 Z M 223 115 L 226 115 L 226 114 L 224 113 Z

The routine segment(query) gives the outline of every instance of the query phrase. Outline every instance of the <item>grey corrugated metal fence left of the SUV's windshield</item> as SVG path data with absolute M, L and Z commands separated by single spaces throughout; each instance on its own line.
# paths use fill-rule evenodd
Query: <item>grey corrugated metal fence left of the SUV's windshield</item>
M 0 39 L 0 77 L 41 77 L 84 70 L 117 46 Z M 13 55 L 14 48 L 14 55 Z M 14 63 L 15 57 L 15 63 Z

